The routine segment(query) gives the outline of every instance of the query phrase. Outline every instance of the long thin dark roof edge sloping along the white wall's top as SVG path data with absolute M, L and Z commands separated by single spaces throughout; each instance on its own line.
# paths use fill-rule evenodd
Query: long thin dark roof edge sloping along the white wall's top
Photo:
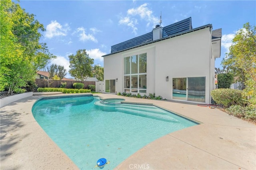
M 206 27 L 211 27 L 212 28 L 212 24 L 207 24 L 207 25 L 203 25 L 201 27 L 197 27 L 197 28 L 194 28 L 194 29 L 190 29 L 190 30 L 187 30 L 187 31 L 182 31 L 182 32 L 178 32 L 178 33 L 174 33 L 168 37 L 163 37 L 161 39 L 157 39 L 157 40 L 154 40 L 154 41 L 148 41 L 148 42 L 145 42 L 145 43 L 141 43 L 141 44 L 138 44 L 138 45 L 135 45 L 133 47 L 128 47 L 126 49 L 122 49 L 120 51 L 116 51 L 116 52 L 112 52 L 110 54 L 107 54 L 107 55 L 103 55 L 102 57 L 106 57 L 108 55 L 112 55 L 112 54 L 115 54 L 115 53 L 120 53 L 122 51 L 126 51 L 126 50 L 130 50 L 130 49 L 133 49 L 133 48 L 137 48 L 137 47 L 140 47 L 140 46 L 144 46 L 144 45 L 148 45 L 148 44 L 151 44 L 151 43 L 155 43 L 155 42 L 158 42 L 158 41 L 162 41 L 162 40 L 165 40 L 165 39 L 169 39 L 169 38 L 172 38 L 172 37 L 177 37 L 179 35 L 183 35 L 183 34 L 186 34 L 186 33 L 190 33 L 190 32 L 194 32 L 194 31 L 198 31 L 200 29 L 204 29 Z M 141 36 L 140 36 L 141 37 Z M 129 40 L 128 40 L 129 41 Z

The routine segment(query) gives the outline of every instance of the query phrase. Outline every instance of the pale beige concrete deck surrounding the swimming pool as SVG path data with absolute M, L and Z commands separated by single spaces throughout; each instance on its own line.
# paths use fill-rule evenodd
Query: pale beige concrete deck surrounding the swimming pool
M 152 103 L 202 123 L 153 141 L 124 160 L 118 170 L 256 169 L 256 126 L 252 123 L 193 104 L 98 96 Z M 1 170 L 78 169 L 35 121 L 31 108 L 39 98 L 31 96 L 1 108 Z

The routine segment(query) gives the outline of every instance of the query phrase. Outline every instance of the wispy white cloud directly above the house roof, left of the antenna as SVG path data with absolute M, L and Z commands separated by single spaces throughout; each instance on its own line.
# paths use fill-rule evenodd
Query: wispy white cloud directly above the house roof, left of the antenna
M 149 25 L 152 25 L 153 28 L 156 24 L 158 24 L 159 18 L 153 15 L 152 10 L 148 9 L 147 5 L 148 4 L 144 3 L 137 8 L 129 9 L 127 11 L 127 15 L 125 17 L 121 17 L 121 19 L 119 20 L 119 24 L 127 25 L 132 29 L 132 33 L 137 35 L 138 28 L 136 27 L 136 25 L 138 24 L 138 21 L 134 17 L 139 16 L 141 20 L 148 22 L 146 24 L 147 27 Z

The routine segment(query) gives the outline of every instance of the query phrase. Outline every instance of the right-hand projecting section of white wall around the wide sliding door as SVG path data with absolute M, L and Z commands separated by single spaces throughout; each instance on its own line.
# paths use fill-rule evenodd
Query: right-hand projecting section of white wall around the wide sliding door
M 206 103 L 209 103 L 210 54 L 209 27 L 157 43 L 156 95 L 171 100 L 172 78 L 205 76 Z M 166 76 L 169 77 L 168 82 Z

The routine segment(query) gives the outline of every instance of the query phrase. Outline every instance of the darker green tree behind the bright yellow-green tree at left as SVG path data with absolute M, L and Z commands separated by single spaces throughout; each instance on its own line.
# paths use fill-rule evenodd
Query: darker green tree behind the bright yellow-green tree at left
M 18 43 L 24 47 L 24 55 L 32 64 L 34 73 L 44 68 L 51 59 L 56 58 L 52 55 L 46 46 L 46 43 L 40 43 L 42 37 L 40 31 L 45 31 L 44 25 L 34 19 L 34 14 L 28 14 L 19 4 L 12 4 L 10 9 L 17 17 L 13 18 L 13 34 L 17 37 Z

